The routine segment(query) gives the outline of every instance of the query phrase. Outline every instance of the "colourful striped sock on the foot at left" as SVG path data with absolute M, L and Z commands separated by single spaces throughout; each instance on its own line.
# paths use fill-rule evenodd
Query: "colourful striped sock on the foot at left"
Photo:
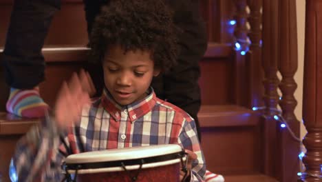
M 48 105 L 41 99 L 38 87 L 32 90 L 11 88 L 6 108 L 19 117 L 35 118 L 43 117 Z

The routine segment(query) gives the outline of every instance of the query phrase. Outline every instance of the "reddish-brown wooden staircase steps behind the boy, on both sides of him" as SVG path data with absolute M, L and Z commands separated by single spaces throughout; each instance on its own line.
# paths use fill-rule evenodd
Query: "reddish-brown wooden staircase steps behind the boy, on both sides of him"
M 263 95 L 263 89 L 260 89 L 263 87 L 262 78 L 257 77 L 261 74 L 261 65 L 256 65 L 254 61 L 258 59 L 258 54 L 248 54 L 251 60 L 247 62 L 246 57 L 236 54 L 232 48 L 232 27 L 223 23 L 233 19 L 236 4 L 240 9 L 246 0 L 206 0 L 201 3 L 209 43 L 204 59 L 200 61 L 202 108 L 198 117 L 207 168 L 223 174 L 228 182 L 277 181 L 277 174 L 270 171 L 275 164 L 267 163 L 269 159 L 275 159 L 267 157 L 271 154 L 267 151 L 272 149 L 271 146 L 267 147 L 266 139 L 271 135 L 265 135 L 265 122 L 261 114 L 251 110 L 253 105 L 262 104 L 259 101 Z M 0 0 L 0 47 L 4 45 L 11 7 L 12 1 Z M 40 85 L 41 95 L 51 106 L 62 81 L 86 66 L 85 27 L 82 1 L 63 1 L 43 50 L 46 81 Z M 6 113 L 9 88 L 3 80 L 1 69 L 0 172 L 3 181 L 9 181 L 8 165 L 15 143 L 38 120 L 21 119 Z

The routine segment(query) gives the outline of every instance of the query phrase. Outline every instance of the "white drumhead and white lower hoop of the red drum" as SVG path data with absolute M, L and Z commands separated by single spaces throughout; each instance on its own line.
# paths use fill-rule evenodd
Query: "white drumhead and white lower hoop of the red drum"
M 143 147 L 133 148 L 121 148 L 111 150 L 100 150 L 94 152 L 83 152 L 80 154 L 72 154 L 67 156 L 65 160 L 66 165 L 68 164 L 84 164 L 84 163 L 100 163 L 100 162 L 111 162 L 111 161 L 125 161 L 131 159 L 144 159 L 153 156 L 164 156 L 167 154 L 176 154 L 182 152 L 180 145 L 175 144 L 164 144 L 164 145 L 151 145 Z M 185 161 L 185 157 L 183 160 Z M 144 163 L 142 168 L 155 168 L 163 165 L 171 165 L 174 163 L 180 163 L 182 159 L 171 159 L 168 161 L 158 161 L 155 163 Z M 140 165 L 126 165 L 127 170 L 137 170 Z M 78 174 L 89 174 L 97 172 L 117 172 L 123 171 L 124 169 L 119 166 L 110 166 L 107 168 L 96 168 L 96 169 L 79 169 Z M 74 173 L 74 170 L 68 170 L 69 173 Z

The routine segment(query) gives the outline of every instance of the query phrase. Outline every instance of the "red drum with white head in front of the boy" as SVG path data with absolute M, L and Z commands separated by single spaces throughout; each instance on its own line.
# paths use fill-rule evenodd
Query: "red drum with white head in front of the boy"
M 72 154 L 65 160 L 65 172 L 67 181 L 176 182 L 185 161 L 180 145 L 151 145 Z

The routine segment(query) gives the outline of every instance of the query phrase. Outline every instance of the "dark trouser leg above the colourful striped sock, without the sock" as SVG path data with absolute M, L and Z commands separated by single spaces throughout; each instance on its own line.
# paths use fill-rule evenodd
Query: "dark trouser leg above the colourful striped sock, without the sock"
M 10 19 L 3 65 L 12 88 L 30 89 L 44 80 L 41 48 L 59 0 L 16 0 Z

